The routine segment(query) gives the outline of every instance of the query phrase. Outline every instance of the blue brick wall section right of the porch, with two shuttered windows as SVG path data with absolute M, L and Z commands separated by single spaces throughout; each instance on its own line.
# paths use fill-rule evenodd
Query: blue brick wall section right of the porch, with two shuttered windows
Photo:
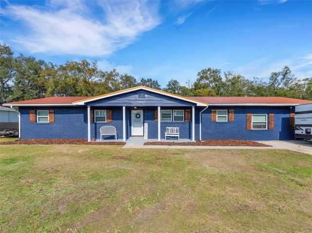
M 234 122 L 211 122 L 212 109 L 234 109 Z M 274 129 L 247 130 L 247 113 L 274 113 Z M 290 113 L 293 108 L 289 107 L 210 107 L 202 114 L 202 140 L 293 140 L 294 130 L 289 128 Z

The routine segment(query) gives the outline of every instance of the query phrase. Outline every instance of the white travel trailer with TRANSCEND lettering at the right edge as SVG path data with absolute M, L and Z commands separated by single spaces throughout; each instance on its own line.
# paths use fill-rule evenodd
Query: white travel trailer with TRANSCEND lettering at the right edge
M 312 104 L 295 106 L 294 129 L 295 138 L 312 139 Z

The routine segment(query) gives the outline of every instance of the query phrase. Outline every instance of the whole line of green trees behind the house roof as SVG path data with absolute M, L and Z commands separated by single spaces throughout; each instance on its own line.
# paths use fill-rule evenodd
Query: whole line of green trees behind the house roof
M 312 78 L 297 79 L 290 68 L 272 72 L 268 82 L 241 74 L 207 68 L 195 82 L 181 85 L 176 79 L 161 89 L 157 80 L 101 71 L 97 61 L 67 61 L 56 65 L 33 56 L 15 56 L 5 42 L 0 44 L 0 104 L 50 96 L 96 96 L 138 85 L 182 96 L 282 96 L 312 100 Z

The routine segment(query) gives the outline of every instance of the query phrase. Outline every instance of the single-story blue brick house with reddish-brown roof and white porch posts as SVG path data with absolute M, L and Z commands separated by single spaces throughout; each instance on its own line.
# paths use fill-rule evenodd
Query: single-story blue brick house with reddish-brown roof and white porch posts
M 160 141 L 166 127 L 179 127 L 180 139 L 191 141 L 260 141 L 294 139 L 294 106 L 305 103 L 312 101 L 183 97 L 138 86 L 95 97 L 48 97 L 3 106 L 19 108 L 21 139 L 98 140 L 100 127 L 112 125 L 122 141 L 138 136 Z

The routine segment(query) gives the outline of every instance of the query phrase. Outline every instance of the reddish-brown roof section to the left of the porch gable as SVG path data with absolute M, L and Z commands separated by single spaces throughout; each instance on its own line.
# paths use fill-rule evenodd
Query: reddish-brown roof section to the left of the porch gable
M 23 105 L 72 105 L 74 101 L 83 100 L 87 96 L 64 96 L 64 97 L 46 97 L 35 100 L 24 100 L 3 104 L 4 106 L 23 106 Z

